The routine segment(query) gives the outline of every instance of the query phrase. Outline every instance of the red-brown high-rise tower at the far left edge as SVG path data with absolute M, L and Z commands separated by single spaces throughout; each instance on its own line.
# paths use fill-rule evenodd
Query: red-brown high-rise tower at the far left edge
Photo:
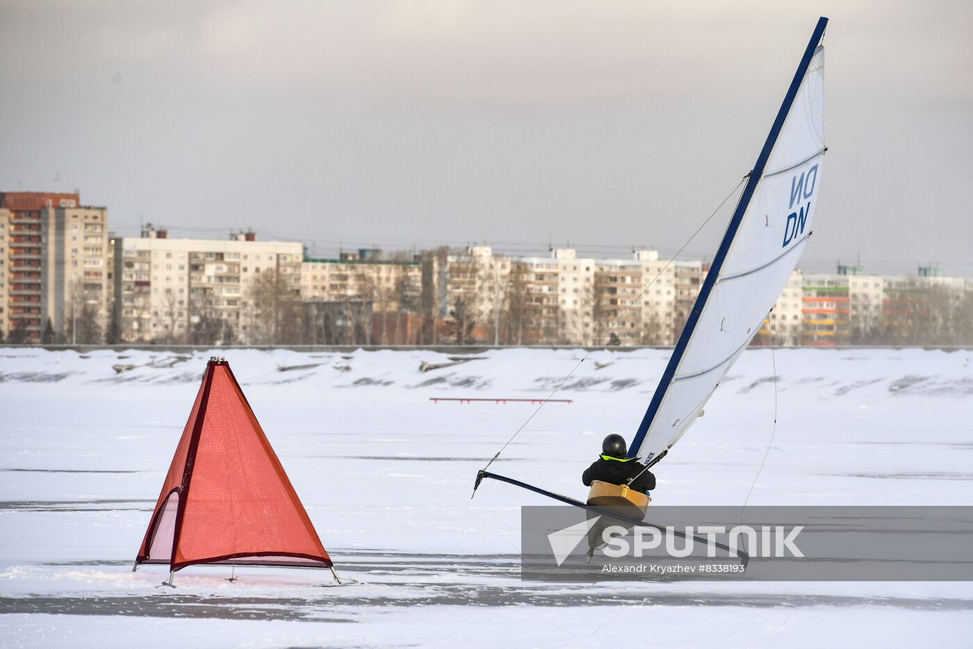
M 39 343 L 44 328 L 41 214 L 45 208 L 74 208 L 80 204 L 77 192 L 0 192 L 0 207 L 10 210 L 7 326 L 12 334 L 18 331 L 18 336 L 27 342 Z

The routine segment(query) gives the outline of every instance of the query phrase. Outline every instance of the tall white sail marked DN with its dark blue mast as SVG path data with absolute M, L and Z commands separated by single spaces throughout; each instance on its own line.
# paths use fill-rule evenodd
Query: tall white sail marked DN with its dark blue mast
M 632 457 L 652 463 L 701 414 L 773 308 L 811 235 L 826 151 L 821 39 L 827 22 L 817 21 L 635 433 Z

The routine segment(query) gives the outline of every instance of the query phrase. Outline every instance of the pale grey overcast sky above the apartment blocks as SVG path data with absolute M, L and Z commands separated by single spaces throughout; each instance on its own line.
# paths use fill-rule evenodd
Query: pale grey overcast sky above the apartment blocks
M 671 252 L 753 165 L 819 15 L 803 266 L 973 275 L 967 0 L 0 0 L 0 190 L 79 189 L 121 234 L 253 228 L 318 254 Z

